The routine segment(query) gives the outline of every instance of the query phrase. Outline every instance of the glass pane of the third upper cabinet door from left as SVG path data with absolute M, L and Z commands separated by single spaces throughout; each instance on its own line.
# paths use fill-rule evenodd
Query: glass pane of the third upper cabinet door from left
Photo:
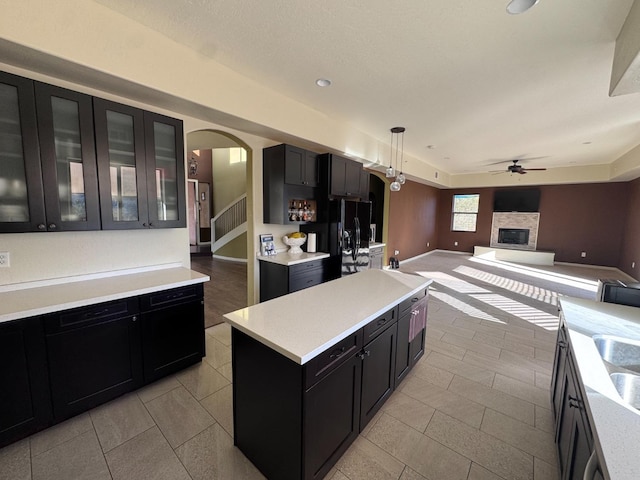
M 134 118 L 107 110 L 111 209 L 114 221 L 140 219 L 136 171 Z

